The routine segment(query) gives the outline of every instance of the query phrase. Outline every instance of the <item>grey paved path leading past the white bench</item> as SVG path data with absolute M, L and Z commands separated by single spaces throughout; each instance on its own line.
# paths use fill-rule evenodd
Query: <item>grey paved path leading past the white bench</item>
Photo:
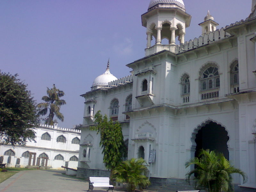
M 63 175 L 65 171 L 32 170 L 20 171 L 0 183 L 0 192 L 86 192 L 87 181 Z M 107 188 L 94 188 L 92 192 L 105 192 Z M 114 189 L 114 192 L 117 191 Z M 91 192 L 91 190 L 90 190 Z

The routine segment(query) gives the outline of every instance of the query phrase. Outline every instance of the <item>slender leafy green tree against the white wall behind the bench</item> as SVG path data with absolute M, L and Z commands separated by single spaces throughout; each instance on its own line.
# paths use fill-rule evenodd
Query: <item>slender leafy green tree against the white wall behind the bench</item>
M 107 169 L 114 169 L 126 155 L 124 137 L 119 122 L 108 121 L 108 116 L 102 116 L 100 111 L 95 114 L 97 125 L 92 127 L 97 134 L 100 133 L 100 146 L 102 148 L 103 163 Z

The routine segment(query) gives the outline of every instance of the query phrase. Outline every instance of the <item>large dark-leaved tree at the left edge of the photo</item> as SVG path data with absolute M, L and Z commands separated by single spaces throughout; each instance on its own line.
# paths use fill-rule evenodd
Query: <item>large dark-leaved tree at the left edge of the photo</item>
M 35 141 L 30 128 L 39 124 L 39 117 L 27 84 L 17 76 L 0 71 L 0 136 L 6 144 L 24 145 Z

